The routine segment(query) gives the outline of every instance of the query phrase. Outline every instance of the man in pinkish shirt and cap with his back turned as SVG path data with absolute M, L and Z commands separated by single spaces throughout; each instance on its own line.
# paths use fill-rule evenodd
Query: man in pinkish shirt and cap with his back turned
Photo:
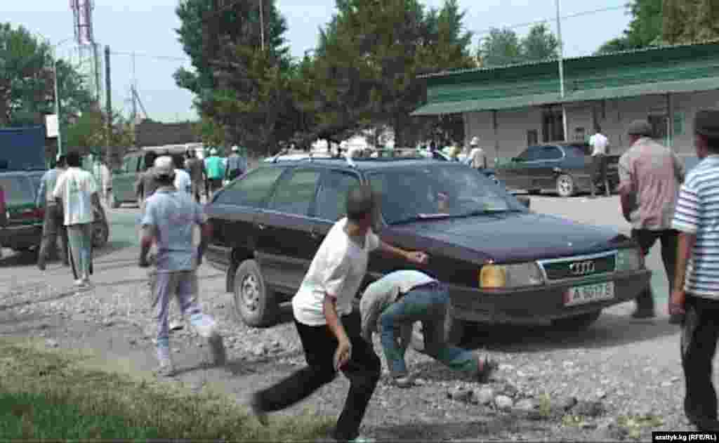
M 660 240 L 661 260 L 671 287 L 677 257 L 677 231 L 672 229 L 672 217 L 679 185 L 684 181 L 684 163 L 674 151 L 652 140 L 652 129 L 646 120 L 631 122 L 627 135 L 631 147 L 619 159 L 622 214 L 631 223 L 632 237 L 644 255 Z M 632 316 L 656 316 L 651 286 L 636 298 Z M 677 324 L 680 319 L 670 316 L 669 321 Z

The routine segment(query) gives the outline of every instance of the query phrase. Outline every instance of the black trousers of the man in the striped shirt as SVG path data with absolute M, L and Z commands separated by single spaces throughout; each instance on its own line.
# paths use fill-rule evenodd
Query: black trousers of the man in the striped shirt
M 719 301 L 691 296 L 684 305 L 682 368 L 686 396 L 684 413 L 700 427 L 717 419 L 717 394 L 712 383 L 712 361 L 719 338 Z M 712 425 L 710 425 L 712 426 Z M 713 425 L 715 427 L 715 424 Z

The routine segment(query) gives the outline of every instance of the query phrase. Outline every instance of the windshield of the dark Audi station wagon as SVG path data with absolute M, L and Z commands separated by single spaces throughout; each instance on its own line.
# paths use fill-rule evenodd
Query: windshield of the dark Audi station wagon
M 367 178 L 381 196 L 380 209 L 388 224 L 526 211 L 516 198 L 464 165 L 388 168 Z

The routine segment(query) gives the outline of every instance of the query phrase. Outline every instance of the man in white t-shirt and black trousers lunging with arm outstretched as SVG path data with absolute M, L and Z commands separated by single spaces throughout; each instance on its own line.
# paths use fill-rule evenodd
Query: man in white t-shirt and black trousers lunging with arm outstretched
M 380 250 L 418 265 L 428 260 L 423 252 L 400 250 L 380 240 L 371 229 L 373 214 L 375 196 L 371 188 L 352 188 L 347 193 L 347 217 L 329 230 L 292 299 L 295 326 L 308 366 L 252 396 L 250 407 L 260 423 L 267 423 L 267 412 L 302 401 L 342 370 L 350 388 L 333 437 L 339 441 L 357 439 L 381 370 L 372 344 L 362 338 L 359 316 L 350 315 L 370 252 Z

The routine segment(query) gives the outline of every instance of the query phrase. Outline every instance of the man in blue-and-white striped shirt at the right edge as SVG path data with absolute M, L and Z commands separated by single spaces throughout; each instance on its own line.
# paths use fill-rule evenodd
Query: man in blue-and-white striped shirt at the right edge
M 684 315 L 684 413 L 700 431 L 717 431 L 712 361 L 719 337 L 719 110 L 697 112 L 695 147 L 701 162 L 687 175 L 672 221 L 680 234 L 669 310 Z

